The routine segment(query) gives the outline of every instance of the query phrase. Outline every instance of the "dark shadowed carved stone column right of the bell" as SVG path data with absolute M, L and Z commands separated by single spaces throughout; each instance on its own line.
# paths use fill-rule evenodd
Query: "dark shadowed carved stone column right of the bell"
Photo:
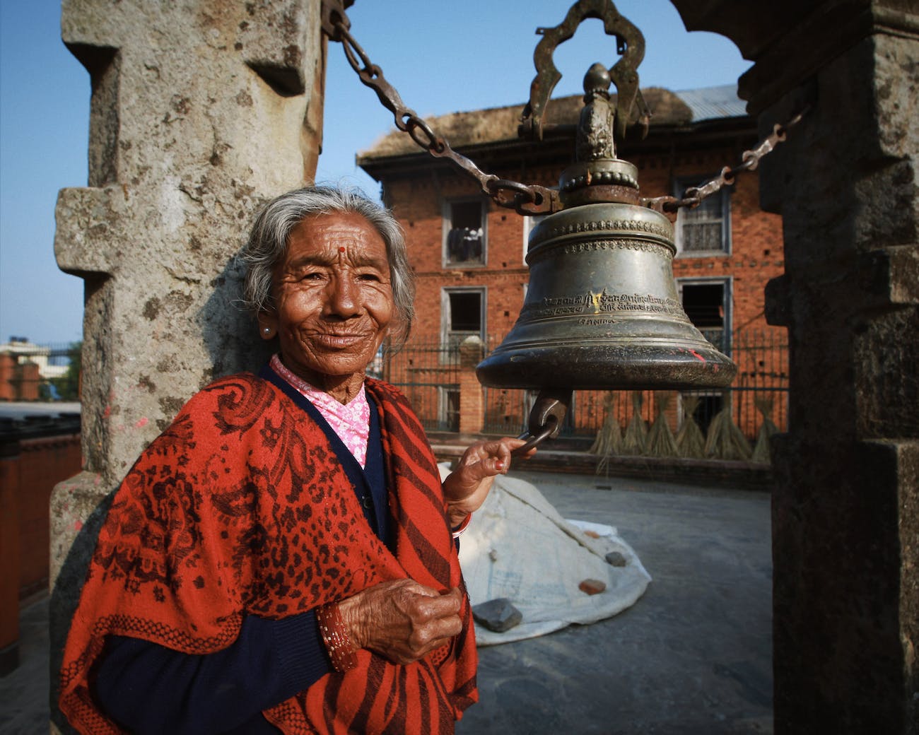
M 674 0 L 756 63 L 786 273 L 789 432 L 773 501 L 775 731 L 919 728 L 919 7 Z

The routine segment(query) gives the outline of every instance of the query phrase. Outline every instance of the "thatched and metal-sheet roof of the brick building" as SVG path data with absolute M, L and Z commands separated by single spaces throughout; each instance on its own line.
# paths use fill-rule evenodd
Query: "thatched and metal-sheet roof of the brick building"
M 737 85 L 712 86 L 683 92 L 672 92 L 663 87 L 648 87 L 642 89 L 641 94 L 652 112 L 652 128 L 680 127 L 706 120 L 744 118 L 747 115 L 746 103 L 737 96 Z M 612 99 L 615 100 L 615 96 L 612 96 Z M 425 118 L 425 122 L 438 135 L 446 138 L 454 148 L 516 141 L 517 124 L 523 107 L 522 104 L 518 104 L 450 112 Z M 576 124 L 582 107 L 582 95 L 557 97 L 546 107 L 544 122 L 547 126 Z M 358 153 L 357 164 L 412 153 L 421 153 L 421 149 L 408 135 L 393 129 L 367 151 Z

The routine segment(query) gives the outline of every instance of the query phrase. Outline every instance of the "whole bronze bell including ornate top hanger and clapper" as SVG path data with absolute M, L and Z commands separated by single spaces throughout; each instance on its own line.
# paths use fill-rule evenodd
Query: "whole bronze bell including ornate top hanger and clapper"
M 641 205 L 635 166 L 616 156 L 614 131 L 622 134 L 641 101 L 636 67 L 644 40 L 609 0 L 579 0 L 561 26 L 540 30 L 539 74 L 521 134 L 541 135 L 542 111 L 560 77 L 551 51 L 584 17 L 604 20 L 623 58 L 610 70 L 596 63 L 584 77 L 576 163 L 560 181 L 563 209 L 530 233 L 523 310 L 476 368 L 482 385 L 541 391 L 530 413 L 532 443 L 558 433 L 571 390 L 723 388 L 736 372 L 680 303 L 673 224 Z

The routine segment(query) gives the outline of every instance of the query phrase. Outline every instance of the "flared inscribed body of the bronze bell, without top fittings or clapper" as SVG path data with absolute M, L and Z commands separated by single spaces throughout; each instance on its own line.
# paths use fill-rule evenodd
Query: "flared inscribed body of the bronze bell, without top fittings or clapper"
M 530 281 L 504 342 L 477 368 L 494 388 L 709 388 L 732 361 L 680 304 L 673 225 L 653 209 L 582 204 L 529 238 Z

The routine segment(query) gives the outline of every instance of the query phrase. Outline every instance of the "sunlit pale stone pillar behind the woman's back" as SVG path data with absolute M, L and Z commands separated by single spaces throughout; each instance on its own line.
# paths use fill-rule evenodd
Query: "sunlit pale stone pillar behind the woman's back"
M 314 174 L 319 5 L 62 3 L 92 102 L 88 187 L 56 210 L 58 265 L 85 279 L 85 472 L 51 501 L 52 701 L 100 502 L 192 393 L 264 358 L 233 255 L 255 209 Z

